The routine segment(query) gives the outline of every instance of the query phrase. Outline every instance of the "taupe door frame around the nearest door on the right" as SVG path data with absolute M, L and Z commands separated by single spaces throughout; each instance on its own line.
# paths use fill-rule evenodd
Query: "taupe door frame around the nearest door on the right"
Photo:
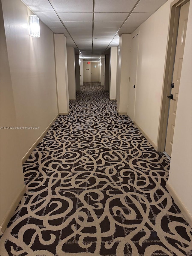
M 168 42 L 166 50 L 166 62 L 164 68 L 163 90 L 161 97 L 161 110 L 158 128 L 157 151 L 164 152 L 167 135 L 167 122 L 169 118 L 170 99 L 167 98 L 171 92 L 171 83 L 173 77 L 173 67 L 175 62 L 175 52 L 177 44 L 177 34 L 179 25 L 180 8 L 190 0 L 175 0 L 170 6 L 170 20 Z

